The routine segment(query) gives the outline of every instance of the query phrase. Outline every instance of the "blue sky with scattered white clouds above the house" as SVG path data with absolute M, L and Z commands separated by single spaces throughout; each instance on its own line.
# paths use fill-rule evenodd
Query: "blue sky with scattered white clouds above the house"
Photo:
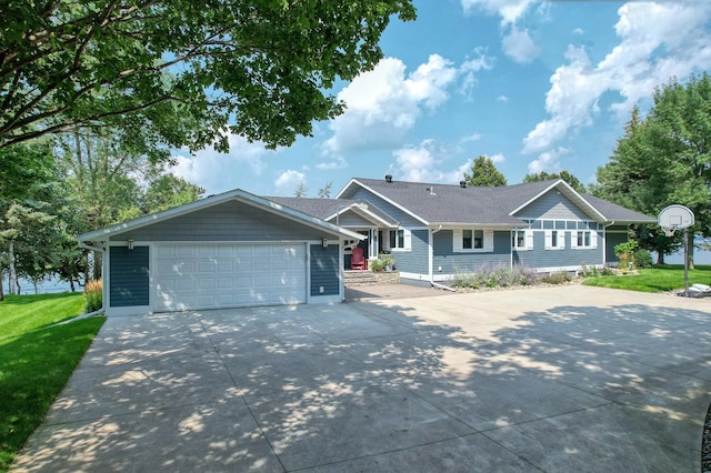
M 509 184 L 568 170 L 593 182 L 630 110 L 654 87 L 711 70 L 711 1 L 415 0 L 384 59 L 336 89 L 348 110 L 313 137 L 229 154 L 177 152 L 173 173 L 207 194 L 308 197 L 351 178 L 458 183 L 479 155 Z

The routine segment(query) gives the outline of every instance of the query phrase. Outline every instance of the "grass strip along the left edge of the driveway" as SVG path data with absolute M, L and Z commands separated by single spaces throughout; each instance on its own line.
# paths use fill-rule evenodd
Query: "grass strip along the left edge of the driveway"
M 82 313 L 83 294 L 6 296 L 0 302 L 0 472 L 40 424 L 103 324 L 50 326 Z

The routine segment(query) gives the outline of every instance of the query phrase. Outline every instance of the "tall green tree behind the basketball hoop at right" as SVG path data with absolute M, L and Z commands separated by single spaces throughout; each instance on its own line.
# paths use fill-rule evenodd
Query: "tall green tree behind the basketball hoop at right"
M 672 203 L 691 209 L 697 221 L 689 231 L 693 268 L 694 234 L 711 234 L 711 79 L 692 76 L 685 85 L 672 79 L 655 89 L 653 99 L 644 120 L 632 111 L 610 163 L 598 170 L 595 192 L 649 215 Z M 679 242 L 663 240 L 659 228 L 655 232 L 662 251 Z

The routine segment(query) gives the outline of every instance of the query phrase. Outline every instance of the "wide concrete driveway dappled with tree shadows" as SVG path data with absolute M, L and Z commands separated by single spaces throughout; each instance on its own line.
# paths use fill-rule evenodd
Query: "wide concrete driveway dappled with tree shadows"
M 13 469 L 697 472 L 710 322 L 579 285 L 110 319 Z

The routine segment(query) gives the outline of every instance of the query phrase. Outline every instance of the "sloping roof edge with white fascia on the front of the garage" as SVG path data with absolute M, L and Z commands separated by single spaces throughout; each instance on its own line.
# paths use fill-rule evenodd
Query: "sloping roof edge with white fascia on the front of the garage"
M 140 229 L 142 227 L 170 220 L 176 217 L 197 212 L 197 211 L 208 209 L 210 207 L 219 205 L 221 203 L 226 203 L 229 201 L 242 202 L 267 212 L 277 213 L 286 219 L 300 222 L 307 227 L 322 230 L 326 233 L 331 235 L 343 235 L 343 236 L 348 236 L 349 239 L 357 239 L 357 240 L 362 240 L 364 238 L 359 233 L 337 227 L 312 214 L 301 212 L 299 210 L 296 210 L 289 207 L 284 207 L 278 202 L 271 201 L 269 199 L 266 199 L 259 195 L 254 195 L 241 189 L 234 189 L 232 191 L 224 192 L 217 195 L 210 195 L 204 199 L 200 199 L 194 202 L 187 203 L 184 205 L 163 210 L 157 213 L 151 213 L 149 215 L 143 215 L 134 220 L 129 220 L 127 222 L 118 223 L 114 225 L 106 227 L 103 229 L 94 230 L 92 232 L 83 233 L 78 236 L 78 240 L 82 242 L 107 240 L 110 236 L 120 235 L 121 233 L 126 233 L 132 230 Z

